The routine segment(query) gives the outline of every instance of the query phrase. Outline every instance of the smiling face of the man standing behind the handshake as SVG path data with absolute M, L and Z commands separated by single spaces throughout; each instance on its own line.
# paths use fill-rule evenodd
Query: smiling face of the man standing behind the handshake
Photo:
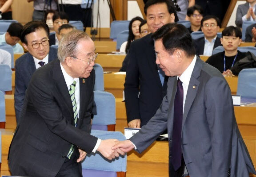
M 169 14 L 165 3 L 153 4 L 147 9 L 148 29 L 152 33 L 167 23 L 173 23 L 174 19 L 174 14 Z

